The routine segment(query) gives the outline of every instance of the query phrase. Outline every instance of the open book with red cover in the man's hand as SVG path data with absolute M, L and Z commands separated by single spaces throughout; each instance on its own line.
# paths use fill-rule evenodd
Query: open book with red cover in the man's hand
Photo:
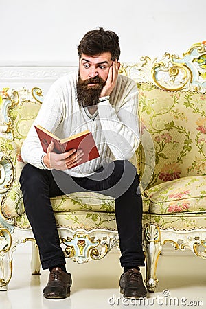
M 72 135 L 71 137 L 66 137 L 65 139 L 59 139 L 56 135 L 42 126 L 37 125 L 34 127 L 36 128 L 36 133 L 41 141 L 44 152 L 47 152 L 47 147 L 52 141 L 54 141 L 54 151 L 57 153 L 67 152 L 73 148 L 76 150 L 82 149 L 84 155 L 78 164 L 100 157 L 98 148 L 95 146 L 95 141 L 89 130 Z M 76 165 L 73 165 L 73 167 L 74 166 Z

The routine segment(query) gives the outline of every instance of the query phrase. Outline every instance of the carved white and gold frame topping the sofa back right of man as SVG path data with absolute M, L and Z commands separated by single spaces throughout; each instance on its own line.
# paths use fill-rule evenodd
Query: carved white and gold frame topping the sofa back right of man
M 152 82 L 166 91 L 206 92 L 206 43 L 196 43 L 182 57 L 165 53 L 160 60 L 142 57 L 135 64 L 123 63 L 119 73 L 137 83 Z

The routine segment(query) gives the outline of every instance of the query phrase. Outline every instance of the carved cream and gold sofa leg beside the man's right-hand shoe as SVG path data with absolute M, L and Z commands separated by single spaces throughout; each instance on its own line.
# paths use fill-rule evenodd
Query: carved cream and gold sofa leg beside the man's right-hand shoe
M 157 225 L 148 225 L 144 229 L 144 253 L 146 257 L 146 286 L 149 292 L 155 292 L 157 261 L 162 250 L 160 230 Z

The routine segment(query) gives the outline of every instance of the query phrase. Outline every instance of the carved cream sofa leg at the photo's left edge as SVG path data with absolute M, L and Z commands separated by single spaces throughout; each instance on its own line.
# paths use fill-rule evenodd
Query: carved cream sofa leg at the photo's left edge
M 8 289 L 12 278 L 12 255 L 17 244 L 7 229 L 0 228 L 0 290 Z

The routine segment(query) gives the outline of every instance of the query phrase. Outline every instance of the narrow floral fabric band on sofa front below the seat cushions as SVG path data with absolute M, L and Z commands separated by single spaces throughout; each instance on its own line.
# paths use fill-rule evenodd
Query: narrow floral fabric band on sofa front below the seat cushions
M 88 211 L 60 212 L 55 214 L 58 227 L 69 229 L 108 229 L 117 230 L 115 214 Z M 143 226 L 149 223 L 158 224 L 163 229 L 196 229 L 205 227 L 205 213 L 184 214 L 143 214 Z M 21 229 L 28 229 L 30 223 L 25 214 L 15 218 L 14 225 Z

